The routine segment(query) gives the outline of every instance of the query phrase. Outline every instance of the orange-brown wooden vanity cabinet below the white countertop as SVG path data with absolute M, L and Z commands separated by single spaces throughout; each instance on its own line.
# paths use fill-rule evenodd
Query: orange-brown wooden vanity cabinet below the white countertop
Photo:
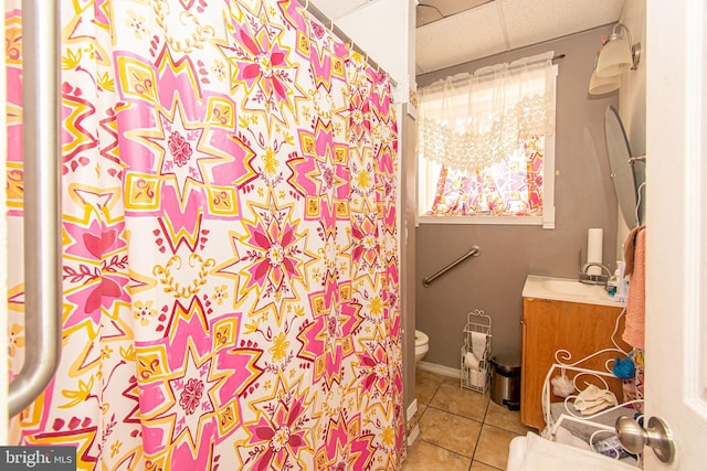
M 602 349 L 614 347 L 611 334 L 616 318 L 623 307 L 584 304 L 549 299 L 523 298 L 523 355 L 520 377 L 520 420 L 523 424 L 542 430 L 542 382 L 555 363 L 555 352 L 564 349 L 572 354 L 572 363 Z M 624 317 L 614 335 L 616 343 L 626 352 L 632 347 L 621 340 Z M 587 368 L 602 370 L 609 358 L 619 356 L 615 352 L 601 355 L 583 363 Z M 610 384 L 610 389 L 621 402 L 621 381 Z M 553 397 L 552 402 L 562 398 Z

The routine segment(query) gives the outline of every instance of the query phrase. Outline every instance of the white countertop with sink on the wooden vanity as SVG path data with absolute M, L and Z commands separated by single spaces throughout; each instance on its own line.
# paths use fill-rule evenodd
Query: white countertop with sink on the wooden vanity
M 585 285 L 572 278 L 541 277 L 528 275 L 523 287 L 524 298 L 552 299 L 556 301 L 583 302 L 623 307 L 610 296 L 603 286 Z

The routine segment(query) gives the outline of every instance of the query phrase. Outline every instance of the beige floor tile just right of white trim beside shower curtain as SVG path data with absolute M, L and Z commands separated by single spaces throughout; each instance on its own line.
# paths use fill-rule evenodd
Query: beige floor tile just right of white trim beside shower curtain
M 473 457 L 482 424 L 444 410 L 428 407 L 420 419 L 424 441 L 465 457 Z

